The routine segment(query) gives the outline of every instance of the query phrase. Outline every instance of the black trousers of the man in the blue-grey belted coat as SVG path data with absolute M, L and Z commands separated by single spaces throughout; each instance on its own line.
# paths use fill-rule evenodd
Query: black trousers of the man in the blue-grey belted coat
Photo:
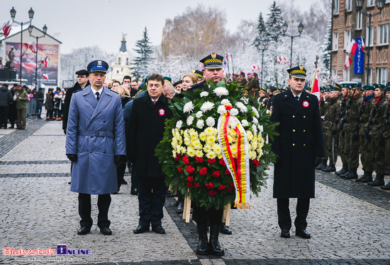
M 111 196 L 110 194 L 98 195 L 98 223 L 99 228 L 109 228 L 110 220 L 108 220 L 108 208 L 110 208 Z M 79 193 L 79 216 L 80 226 L 87 226 L 91 228 L 91 194 Z

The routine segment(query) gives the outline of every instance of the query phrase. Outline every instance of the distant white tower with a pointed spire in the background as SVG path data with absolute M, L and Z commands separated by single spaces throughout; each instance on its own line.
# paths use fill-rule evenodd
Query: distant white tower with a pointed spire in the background
M 126 37 L 123 35 L 121 48 L 116 54 L 115 61 L 111 64 L 111 71 L 106 74 L 106 82 L 111 84 L 112 81 L 116 80 L 122 83 L 124 76 L 131 76 L 130 67 L 132 67 L 132 64 L 130 59 L 130 53 L 126 48 Z

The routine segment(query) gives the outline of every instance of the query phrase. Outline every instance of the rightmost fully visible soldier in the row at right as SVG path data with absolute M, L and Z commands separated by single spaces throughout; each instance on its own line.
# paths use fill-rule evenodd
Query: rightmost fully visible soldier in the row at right
M 375 179 L 367 184 L 372 187 L 379 187 L 384 185 L 384 173 L 386 172 L 384 165 L 384 139 L 381 137 L 381 131 L 383 129 L 388 102 L 384 97 L 385 86 L 375 84 L 374 88 L 375 101 L 372 105 L 369 121 L 364 128 L 364 136 L 371 141 L 371 150 L 374 154 L 374 170 L 377 172 Z

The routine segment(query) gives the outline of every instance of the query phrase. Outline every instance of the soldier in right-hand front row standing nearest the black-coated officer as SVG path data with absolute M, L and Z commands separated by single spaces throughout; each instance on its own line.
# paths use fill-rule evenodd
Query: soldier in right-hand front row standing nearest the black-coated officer
M 340 114 L 341 100 L 340 88 L 337 86 L 330 86 L 328 102 L 323 121 L 324 142 L 325 142 L 325 157 L 329 159 L 329 165 L 323 168 L 323 172 L 335 172 L 335 164 L 338 158 L 338 142 L 337 121 Z

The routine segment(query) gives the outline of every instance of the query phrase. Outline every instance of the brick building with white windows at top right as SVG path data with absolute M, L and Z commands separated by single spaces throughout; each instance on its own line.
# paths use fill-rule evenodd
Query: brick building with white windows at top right
M 377 13 L 376 0 L 365 0 L 362 11 Z M 357 10 L 356 0 L 332 1 L 332 52 L 330 69 L 333 75 L 342 77 L 342 81 L 360 81 L 367 83 L 367 46 L 369 45 L 369 84 L 386 84 L 389 81 L 389 23 L 390 0 L 386 0 L 379 16 L 372 17 L 369 36 L 369 18 Z M 362 73 L 355 73 L 355 59 L 345 69 L 345 57 L 348 44 L 357 38 L 364 40 Z M 368 42 L 369 40 L 369 42 Z

